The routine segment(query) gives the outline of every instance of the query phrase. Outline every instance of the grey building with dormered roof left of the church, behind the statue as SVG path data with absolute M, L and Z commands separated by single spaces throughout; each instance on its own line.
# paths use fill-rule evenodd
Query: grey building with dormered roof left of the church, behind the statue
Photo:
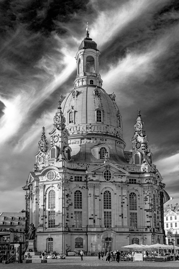
M 0 213 L 0 231 L 9 229 L 16 232 L 25 231 L 25 210 L 21 212 Z

